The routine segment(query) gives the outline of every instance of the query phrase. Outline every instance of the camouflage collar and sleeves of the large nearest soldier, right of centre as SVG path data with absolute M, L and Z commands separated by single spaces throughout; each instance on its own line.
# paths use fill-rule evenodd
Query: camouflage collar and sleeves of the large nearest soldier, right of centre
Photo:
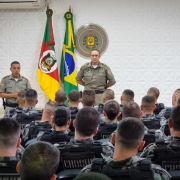
M 137 166 L 138 162 L 143 160 L 143 158 L 140 158 L 138 156 L 132 156 L 130 158 L 124 159 L 122 161 L 115 161 L 111 157 L 104 157 L 104 160 L 107 162 L 107 164 L 111 163 L 111 166 L 117 167 L 118 169 L 121 168 L 122 170 L 127 169 L 131 166 Z M 159 165 L 151 164 L 151 168 L 154 171 L 154 180 L 169 180 L 170 175 L 168 172 L 161 168 Z M 81 173 L 88 173 L 91 172 L 91 165 L 87 165 L 81 170 Z

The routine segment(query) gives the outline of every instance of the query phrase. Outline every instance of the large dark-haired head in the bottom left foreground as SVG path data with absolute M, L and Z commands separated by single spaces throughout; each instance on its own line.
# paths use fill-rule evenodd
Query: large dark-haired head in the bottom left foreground
M 59 166 L 60 151 L 47 142 L 29 145 L 22 156 L 20 176 L 22 180 L 50 180 Z

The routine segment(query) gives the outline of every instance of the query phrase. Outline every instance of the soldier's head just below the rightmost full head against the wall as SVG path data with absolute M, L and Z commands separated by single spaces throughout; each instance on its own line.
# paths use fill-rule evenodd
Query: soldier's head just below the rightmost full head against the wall
M 155 108 L 155 98 L 153 96 L 144 96 L 142 98 L 141 106 L 143 110 L 148 110 L 148 111 L 154 111 Z

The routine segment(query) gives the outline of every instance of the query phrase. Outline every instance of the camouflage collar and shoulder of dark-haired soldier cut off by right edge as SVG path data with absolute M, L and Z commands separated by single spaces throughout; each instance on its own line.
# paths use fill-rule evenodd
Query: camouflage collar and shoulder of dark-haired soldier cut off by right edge
M 168 143 L 169 147 L 180 147 L 180 137 L 168 136 L 165 142 Z M 149 146 L 144 148 L 140 157 L 153 159 L 154 149 L 156 148 L 157 148 L 157 145 L 155 143 L 150 144 Z

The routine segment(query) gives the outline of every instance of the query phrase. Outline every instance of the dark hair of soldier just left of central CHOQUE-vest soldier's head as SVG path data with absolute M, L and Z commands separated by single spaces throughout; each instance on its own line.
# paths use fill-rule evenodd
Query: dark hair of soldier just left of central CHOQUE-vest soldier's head
M 58 106 L 54 111 L 54 122 L 57 126 L 64 126 L 71 119 L 71 112 L 68 107 Z

